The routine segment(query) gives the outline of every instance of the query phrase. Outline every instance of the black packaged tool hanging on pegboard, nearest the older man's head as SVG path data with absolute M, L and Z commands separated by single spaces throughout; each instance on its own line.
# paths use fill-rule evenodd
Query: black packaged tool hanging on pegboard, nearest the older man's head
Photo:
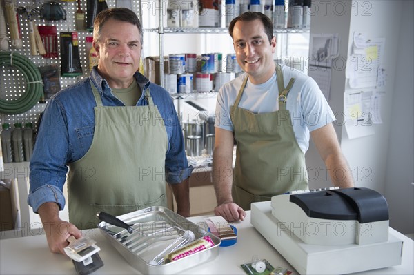
M 77 32 L 61 32 L 61 76 L 77 77 L 82 74 L 79 58 L 79 41 Z

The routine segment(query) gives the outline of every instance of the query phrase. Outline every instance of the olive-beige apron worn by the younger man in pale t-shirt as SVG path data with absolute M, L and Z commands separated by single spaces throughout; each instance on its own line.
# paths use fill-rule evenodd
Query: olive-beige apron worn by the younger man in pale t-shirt
M 276 74 L 278 111 L 255 114 L 238 107 L 248 77 L 230 110 L 237 141 L 232 195 L 244 210 L 250 210 L 250 203 L 268 201 L 276 194 L 308 188 L 305 155 L 286 110 L 288 92 L 295 79 L 290 79 L 285 88 L 279 65 Z

